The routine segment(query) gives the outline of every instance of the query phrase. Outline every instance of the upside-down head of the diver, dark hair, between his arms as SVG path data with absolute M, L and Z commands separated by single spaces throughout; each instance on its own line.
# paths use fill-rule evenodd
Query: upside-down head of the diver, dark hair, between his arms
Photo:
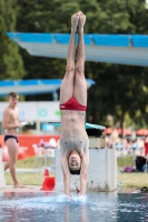
M 80 174 L 81 157 L 76 150 L 73 150 L 70 153 L 68 159 L 68 165 L 70 174 Z

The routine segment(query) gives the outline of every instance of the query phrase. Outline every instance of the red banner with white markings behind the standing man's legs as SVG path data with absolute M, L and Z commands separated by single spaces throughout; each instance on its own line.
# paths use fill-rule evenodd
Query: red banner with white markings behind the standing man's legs
M 38 147 L 59 147 L 59 135 L 18 135 L 19 155 L 18 160 L 27 159 L 36 155 Z M 8 149 L 4 143 L 4 135 L 0 135 L 0 147 L 3 149 L 3 161 L 8 161 Z

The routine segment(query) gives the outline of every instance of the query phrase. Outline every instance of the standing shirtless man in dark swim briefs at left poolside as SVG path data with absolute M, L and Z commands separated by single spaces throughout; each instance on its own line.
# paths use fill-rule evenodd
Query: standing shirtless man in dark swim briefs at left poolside
M 22 186 L 16 176 L 16 162 L 18 159 L 19 143 L 18 143 L 18 128 L 22 128 L 24 124 L 19 122 L 19 110 L 17 108 L 19 95 L 16 92 L 9 93 L 9 105 L 3 111 L 2 128 L 4 129 L 4 142 L 8 147 L 9 162 L 6 163 L 4 170 L 10 169 L 10 173 L 13 180 L 13 186 Z M 26 122 L 27 123 L 27 122 Z M 29 123 L 29 122 L 28 122 Z

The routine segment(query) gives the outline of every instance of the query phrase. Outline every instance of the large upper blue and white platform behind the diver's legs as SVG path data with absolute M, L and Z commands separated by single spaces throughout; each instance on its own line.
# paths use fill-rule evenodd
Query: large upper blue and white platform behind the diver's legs
M 30 56 L 66 59 L 70 33 L 8 32 Z M 78 36 L 77 36 L 78 42 Z M 148 67 L 148 36 L 85 34 L 86 61 Z

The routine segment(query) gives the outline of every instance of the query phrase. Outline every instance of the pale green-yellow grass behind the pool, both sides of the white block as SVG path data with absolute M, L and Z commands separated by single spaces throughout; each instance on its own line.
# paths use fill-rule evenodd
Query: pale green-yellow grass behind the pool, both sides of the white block
M 124 167 L 131 167 L 132 165 L 132 158 L 119 158 L 117 160 L 118 168 L 124 170 Z M 26 160 L 18 161 L 17 168 L 33 168 L 34 158 L 29 158 Z M 52 162 L 50 162 L 52 164 Z M 43 165 L 43 162 L 41 163 Z M 31 172 L 31 173 L 17 173 L 18 180 L 20 183 L 24 185 L 41 185 L 43 181 L 43 172 Z M 52 174 L 52 176 L 55 176 Z M 10 173 L 6 173 L 7 184 L 12 184 L 12 179 Z M 141 188 L 148 186 L 148 173 L 118 173 L 117 174 L 118 182 L 122 183 L 125 188 Z

